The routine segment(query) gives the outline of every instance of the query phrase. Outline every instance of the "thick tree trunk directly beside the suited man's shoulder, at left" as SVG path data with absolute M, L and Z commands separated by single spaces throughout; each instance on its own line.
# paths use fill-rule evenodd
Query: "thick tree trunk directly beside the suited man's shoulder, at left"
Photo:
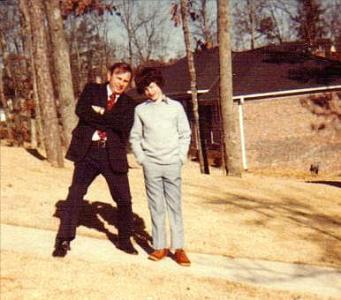
M 45 1 L 45 7 L 52 40 L 63 133 L 66 147 L 68 147 L 77 118 L 75 115 L 69 47 L 65 39 L 59 2 L 59 0 Z

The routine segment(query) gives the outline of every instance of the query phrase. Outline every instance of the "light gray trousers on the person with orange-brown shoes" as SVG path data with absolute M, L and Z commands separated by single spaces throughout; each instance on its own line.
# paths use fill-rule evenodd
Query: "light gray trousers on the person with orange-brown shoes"
M 159 165 L 143 163 L 148 207 L 152 219 L 154 249 L 167 247 L 166 212 L 171 233 L 171 248 L 184 247 L 181 210 L 181 163 Z

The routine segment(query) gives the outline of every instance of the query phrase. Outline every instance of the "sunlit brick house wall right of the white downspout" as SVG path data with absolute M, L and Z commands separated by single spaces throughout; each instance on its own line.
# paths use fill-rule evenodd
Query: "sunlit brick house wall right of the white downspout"
M 248 100 L 243 104 L 248 169 L 341 171 L 341 130 L 312 130 L 323 121 L 300 104 L 304 96 Z M 237 106 L 235 111 L 237 114 Z M 238 115 L 238 114 L 237 114 Z

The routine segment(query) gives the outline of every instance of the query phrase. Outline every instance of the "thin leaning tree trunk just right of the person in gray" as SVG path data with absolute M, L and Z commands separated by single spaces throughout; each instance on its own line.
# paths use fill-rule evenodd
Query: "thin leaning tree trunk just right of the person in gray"
M 201 138 L 200 130 L 200 120 L 199 120 L 199 110 L 198 110 L 198 93 L 197 93 L 197 79 L 194 65 L 194 58 L 191 46 L 191 32 L 188 26 L 188 0 L 181 0 L 181 17 L 182 17 L 182 28 L 184 32 L 188 70 L 191 78 L 191 92 L 192 92 L 192 107 L 194 116 L 194 130 L 196 137 L 198 139 L 198 154 L 199 154 L 199 164 L 200 172 L 208 174 L 209 168 L 207 159 L 204 160 L 203 154 L 203 143 Z M 206 156 L 205 156 L 206 157 Z

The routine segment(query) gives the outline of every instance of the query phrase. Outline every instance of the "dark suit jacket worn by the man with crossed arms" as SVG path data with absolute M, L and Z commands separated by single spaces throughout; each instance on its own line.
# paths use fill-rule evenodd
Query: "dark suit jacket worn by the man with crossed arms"
M 128 172 L 127 144 L 134 122 L 134 101 L 122 94 L 111 111 L 103 115 L 96 113 L 91 105 L 106 107 L 106 84 L 87 84 L 77 102 L 76 114 L 79 122 L 72 132 L 66 158 L 78 162 L 87 154 L 92 135 L 96 130 L 107 132 L 107 151 L 114 172 Z

